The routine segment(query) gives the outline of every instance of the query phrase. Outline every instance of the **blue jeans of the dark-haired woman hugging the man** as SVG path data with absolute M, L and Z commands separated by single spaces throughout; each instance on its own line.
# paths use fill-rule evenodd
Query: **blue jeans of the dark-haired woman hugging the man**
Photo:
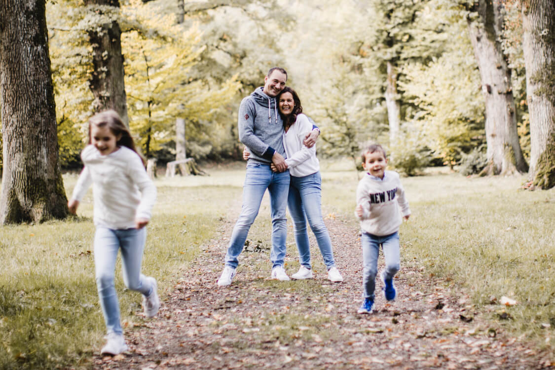
M 291 176 L 287 206 L 293 219 L 299 262 L 302 266 L 311 268 L 309 234 L 306 229 L 306 220 L 308 219 L 324 264 L 329 270 L 335 266 L 334 252 L 330 234 L 327 232 L 324 219 L 322 219 L 321 199 L 322 178 L 320 172 L 298 178 Z

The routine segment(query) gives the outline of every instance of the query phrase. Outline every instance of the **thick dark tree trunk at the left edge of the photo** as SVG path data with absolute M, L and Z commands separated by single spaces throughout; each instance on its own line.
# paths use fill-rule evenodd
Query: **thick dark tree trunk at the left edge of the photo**
M 0 1 L 0 224 L 68 215 L 50 68 L 45 0 Z

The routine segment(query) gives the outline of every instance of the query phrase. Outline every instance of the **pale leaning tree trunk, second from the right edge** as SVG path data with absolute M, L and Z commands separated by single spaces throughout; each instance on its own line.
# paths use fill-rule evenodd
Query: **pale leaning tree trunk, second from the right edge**
M 499 0 L 480 0 L 474 10 L 480 18 L 468 26 L 486 99 L 488 165 L 481 174 L 526 173 L 528 165 L 518 141 L 511 70 L 499 42 L 503 4 Z

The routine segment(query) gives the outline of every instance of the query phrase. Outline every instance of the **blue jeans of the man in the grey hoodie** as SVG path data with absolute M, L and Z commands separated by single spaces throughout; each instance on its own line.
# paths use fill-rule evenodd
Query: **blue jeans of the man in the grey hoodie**
M 239 264 L 237 257 L 243 251 L 250 225 L 253 225 L 258 215 L 266 189 L 270 193 L 272 217 L 270 260 L 273 267 L 284 265 L 285 239 L 287 237 L 285 210 L 287 208 L 287 192 L 289 191 L 289 170 L 276 173 L 270 169 L 270 165 L 248 163 L 245 184 L 243 185 L 243 206 L 231 233 L 228 252 L 225 255 L 226 266 L 236 268 Z

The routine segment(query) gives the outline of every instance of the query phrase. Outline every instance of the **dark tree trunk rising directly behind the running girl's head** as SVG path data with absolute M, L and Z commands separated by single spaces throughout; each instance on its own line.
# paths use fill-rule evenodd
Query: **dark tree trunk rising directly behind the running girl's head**
M 85 0 L 85 4 L 119 8 L 119 0 Z M 89 86 L 94 95 L 94 110 L 114 109 L 129 127 L 123 80 L 122 31 L 118 22 L 91 28 L 89 42 L 93 48 L 94 71 Z

